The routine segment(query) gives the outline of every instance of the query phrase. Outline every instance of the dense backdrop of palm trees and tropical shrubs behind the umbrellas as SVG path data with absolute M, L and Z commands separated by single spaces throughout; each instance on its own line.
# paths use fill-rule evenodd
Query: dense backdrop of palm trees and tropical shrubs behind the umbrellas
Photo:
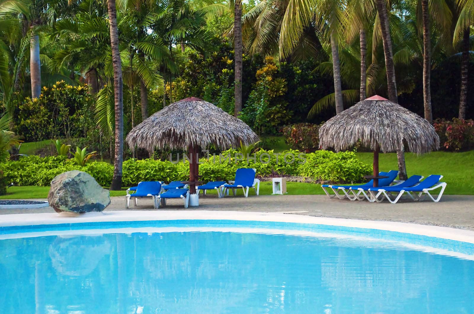
M 153 154 L 124 136 L 184 97 L 274 134 L 374 94 L 446 119 L 445 149 L 470 149 L 473 12 L 472 0 L 0 0 L 2 152 L 15 134 L 88 146 L 115 160 L 118 188 L 124 154 Z M 314 149 L 313 127 L 285 130 Z

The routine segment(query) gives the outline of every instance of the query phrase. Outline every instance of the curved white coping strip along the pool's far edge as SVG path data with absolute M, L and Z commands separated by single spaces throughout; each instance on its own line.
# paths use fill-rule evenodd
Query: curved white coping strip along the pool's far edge
M 7 214 L 1 216 L 1 227 L 20 227 L 38 225 L 59 225 L 118 221 L 159 221 L 159 220 L 241 220 L 281 223 L 301 223 L 325 226 L 375 229 L 418 236 L 436 237 L 452 241 L 474 244 L 474 231 L 451 227 L 419 225 L 404 222 L 360 220 L 346 218 L 326 218 L 291 213 L 214 211 L 214 210 L 123 210 L 101 213 L 31 213 Z M 18 232 L 18 233 L 21 233 Z

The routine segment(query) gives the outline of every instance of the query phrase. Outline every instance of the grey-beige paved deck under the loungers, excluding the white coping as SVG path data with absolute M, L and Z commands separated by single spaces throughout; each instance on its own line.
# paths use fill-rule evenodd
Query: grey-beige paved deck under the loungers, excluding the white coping
M 395 221 L 474 230 L 474 195 L 444 195 L 438 203 L 402 201 L 397 204 L 329 199 L 326 195 L 249 195 L 248 198 L 239 195 L 223 199 L 209 195 L 201 196 L 199 201 L 199 207 L 190 206 L 184 209 L 182 200 L 169 200 L 167 205 L 159 210 L 274 212 L 313 217 Z M 117 210 L 126 210 L 124 197 L 112 197 L 111 204 L 105 209 L 105 211 Z M 138 206 L 131 206 L 129 210 L 156 211 L 157 209 L 153 209 L 153 201 L 145 199 L 139 200 Z M 0 209 L 0 214 L 52 212 L 54 210 L 51 207 Z

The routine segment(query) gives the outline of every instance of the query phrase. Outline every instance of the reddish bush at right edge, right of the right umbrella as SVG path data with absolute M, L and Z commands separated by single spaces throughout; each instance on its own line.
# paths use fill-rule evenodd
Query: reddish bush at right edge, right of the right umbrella
M 438 119 L 434 123 L 441 148 L 446 150 L 468 150 L 474 148 L 474 121 Z

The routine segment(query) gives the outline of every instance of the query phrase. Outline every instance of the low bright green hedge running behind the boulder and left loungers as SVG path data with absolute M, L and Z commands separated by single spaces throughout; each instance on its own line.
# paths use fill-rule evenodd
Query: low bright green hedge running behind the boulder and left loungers
M 333 153 L 320 150 L 303 154 L 298 150 L 286 150 L 276 154 L 273 150 L 259 150 L 248 160 L 239 159 L 244 158 L 233 149 L 223 152 L 220 157 L 201 158 L 200 180 L 232 180 L 237 168 L 241 167 L 256 168 L 260 176 L 302 175 L 331 182 L 361 182 L 362 176 L 372 171 L 372 166 L 362 163 L 354 152 L 349 151 Z M 87 172 L 102 186 L 109 186 L 112 181 L 113 166 L 101 161 L 91 162 L 82 167 L 64 156 L 44 158 L 29 156 L 22 157 L 18 161 L 0 163 L 0 171 L 3 171 L 7 182 L 17 185 L 47 186 L 56 175 L 70 170 Z M 123 163 L 123 186 L 131 186 L 139 181 L 170 182 L 185 180 L 188 177 L 187 161 L 172 163 L 153 159 L 128 159 Z

